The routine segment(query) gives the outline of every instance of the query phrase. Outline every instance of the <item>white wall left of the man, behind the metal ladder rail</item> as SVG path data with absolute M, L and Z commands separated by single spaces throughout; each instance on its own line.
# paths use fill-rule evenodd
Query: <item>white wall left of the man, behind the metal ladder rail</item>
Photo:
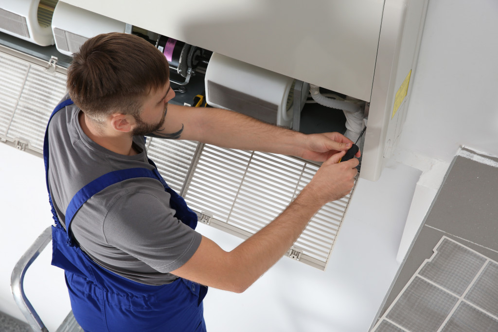
M 52 221 L 43 159 L 0 143 L 0 311 L 23 320 L 10 293 L 15 263 Z M 51 243 L 26 272 L 28 300 L 49 331 L 70 311 L 61 269 L 50 265 Z M 1 331 L 0 327 L 0 331 Z

